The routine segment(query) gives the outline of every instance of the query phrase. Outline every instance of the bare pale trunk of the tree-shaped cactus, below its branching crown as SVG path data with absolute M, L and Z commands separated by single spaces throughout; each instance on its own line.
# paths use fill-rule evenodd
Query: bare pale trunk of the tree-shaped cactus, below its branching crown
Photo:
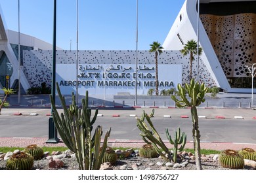
M 198 127 L 198 111 L 196 107 L 191 107 L 192 122 L 193 122 L 193 139 L 194 139 L 194 151 L 196 156 L 196 169 L 202 170 L 201 163 L 201 148 L 200 148 L 200 131 Z

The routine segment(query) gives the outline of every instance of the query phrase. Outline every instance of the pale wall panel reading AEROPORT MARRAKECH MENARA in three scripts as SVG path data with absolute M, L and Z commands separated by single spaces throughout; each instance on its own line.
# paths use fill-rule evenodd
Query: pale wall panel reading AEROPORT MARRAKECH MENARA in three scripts
M 75 93 L 78 84 L 79 95 L 113 94 L 129 92 L 135 94 L 136 66 L 131 64 L 85 64 L 79 65 L 76 81 L 75 64 L 56 64 L 56 82 L 65 95 Z M 150 88 L 156 88 L 156 65 L 138 65 L 137 93 L 146 95 Z M 182 65 L 158 65 L 159 91 L 177 88 L 182 81 Z

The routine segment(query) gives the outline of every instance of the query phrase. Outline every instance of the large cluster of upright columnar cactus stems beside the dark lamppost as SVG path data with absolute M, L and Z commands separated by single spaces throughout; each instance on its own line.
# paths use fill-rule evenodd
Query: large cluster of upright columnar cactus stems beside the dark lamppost
M 96 121 L 98 110 L 95 110 L 95 115 L 91 120 L 91 108 L 89 108 L 88 105 L 88 92 L 86 92 L 85 99 L 82 99 L 82 108 L 78 108 L 76 105 L 74 93 L 72 93 L 72 104 L 67 108 L 66 101 L 60 92 L 58 83 L 56 86 L 64 113 L 58 114 L 53 96 L 50 95 L 50 98 L 53 106 L 53 121 L 62 141 L 70 150 L 75 152 L 79 169 L 100 169 L 111 129 L 108 129 L 106 132 L 102 151 L 100 152 L 102 126 L 98 125 L 95 129 L 95 133 L 92 134 L 93 124 Z

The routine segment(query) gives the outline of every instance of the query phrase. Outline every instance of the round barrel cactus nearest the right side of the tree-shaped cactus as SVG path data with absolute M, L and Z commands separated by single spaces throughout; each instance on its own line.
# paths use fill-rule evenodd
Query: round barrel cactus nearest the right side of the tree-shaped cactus
M 236 150 L 224 150 L 219 156 L 221 166 L 229 169 L 243 169 L 244 158 Z

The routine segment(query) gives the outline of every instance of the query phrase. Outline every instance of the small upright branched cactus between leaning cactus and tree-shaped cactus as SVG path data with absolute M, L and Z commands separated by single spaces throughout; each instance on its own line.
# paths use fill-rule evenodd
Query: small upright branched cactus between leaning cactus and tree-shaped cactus
M 177 131 L 175 131 L 175 138 L 174 140 L 171 139 L 171 135 L 169 135 L 169 131 L 167 128 L 165 128 L 165 134 L 167 136 L 167 139 L 171 144 L 174 145 L 173 148 L 173 161 L 174 163 L 177 163 L 177 151 L 182 151 L 184 149 L 184 146 L 186 144 L 186 135 L 184 132 L 182 132 L 181 135 L 181 129 L 178 127 Z M 180 148 L 178 148 L 178 145 L 181 144 Z

